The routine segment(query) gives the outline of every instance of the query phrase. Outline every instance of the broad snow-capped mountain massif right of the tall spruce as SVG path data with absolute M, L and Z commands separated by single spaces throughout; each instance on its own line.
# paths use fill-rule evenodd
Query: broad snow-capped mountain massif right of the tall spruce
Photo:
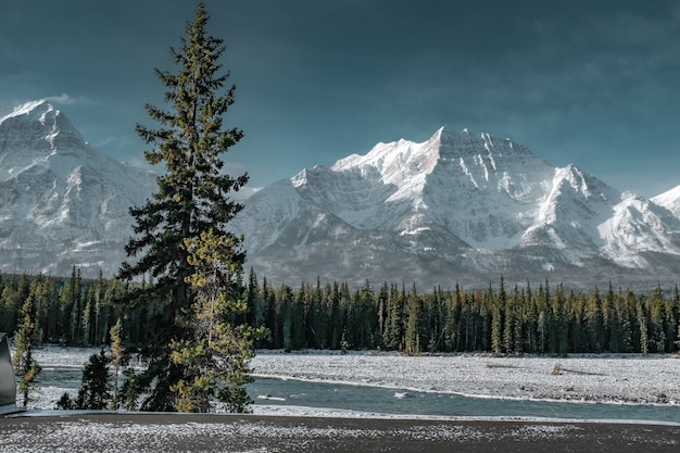
M 275 281 L 675 281 L 680 189 L 654 200 L 509 139 L 441 128 L 266 187 L 235 226 Z

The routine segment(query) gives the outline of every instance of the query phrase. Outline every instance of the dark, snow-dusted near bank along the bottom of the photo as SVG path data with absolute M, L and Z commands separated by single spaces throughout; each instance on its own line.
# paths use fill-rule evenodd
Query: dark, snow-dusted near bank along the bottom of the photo
M 677 452 L 678 426 L 60 413 L 0 419 L 0 452 Z

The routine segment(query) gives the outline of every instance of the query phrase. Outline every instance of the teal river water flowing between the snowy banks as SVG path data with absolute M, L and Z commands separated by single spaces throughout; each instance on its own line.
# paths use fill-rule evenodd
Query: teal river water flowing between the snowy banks
M 40 375 L 39 406 L 52 408 L 64 391 L 75 395 L 81 368 L 49 367 Z M 650 420 L 680 424 L 680 406 L 501 400 L 368 386 L 256 379 L 248 391 L 257 405 L 300 406 L 399 415 L 453 417 L 541 417 Z M 51 400 L 51 402 L 49 401 Z

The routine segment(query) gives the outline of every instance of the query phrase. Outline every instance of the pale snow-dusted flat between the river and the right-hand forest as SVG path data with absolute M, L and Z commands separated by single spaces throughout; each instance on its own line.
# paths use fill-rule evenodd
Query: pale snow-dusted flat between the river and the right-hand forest
M 555 358 L 260 351 L 252 365 L 261 377 L 470 397 L 680 404 L 680 358 L 671 355 Z

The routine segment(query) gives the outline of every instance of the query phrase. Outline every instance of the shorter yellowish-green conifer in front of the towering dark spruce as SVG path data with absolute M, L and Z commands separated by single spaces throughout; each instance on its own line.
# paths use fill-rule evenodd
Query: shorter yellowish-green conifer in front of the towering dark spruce
M 180 412 L 210 412 L 216 400 L 227 411 L 241 413 L 251 402 L 244 386 L 252 381 L 248 364 L 256 332 L 250 326 L 234 325 L 248 310 L 238 278 L 243 259 L 235 254 L 234 241 L 213 230 L 185 241 L 196 269 L 188 278 L 196 302 L 182 316 L 184 327 L 192 335 L 171 342 L 173 363 L 182 368 L 181 379 L 171 386 Z

